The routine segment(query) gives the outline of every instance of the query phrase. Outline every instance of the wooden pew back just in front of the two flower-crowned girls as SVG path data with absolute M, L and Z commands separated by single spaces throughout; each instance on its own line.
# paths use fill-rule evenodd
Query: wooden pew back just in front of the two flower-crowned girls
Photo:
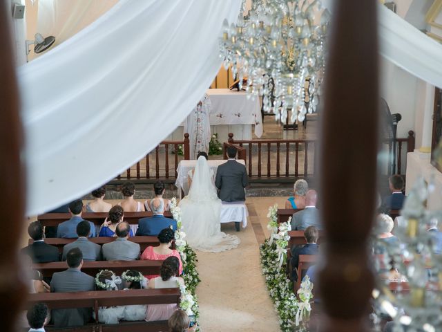
M 163 261 L 84 261 L 81 272 L 95 277 L 99 270 L 112 270 L 116 275 L 122 275 L 126 270 L 137 270 L 143 275 L 160 275 Z M 68 268 L 66 261 L 51 261 L 50 263 L 32 264 L 34 270 L 40 271 L 43 277 L 52 277 L 56 272 Z

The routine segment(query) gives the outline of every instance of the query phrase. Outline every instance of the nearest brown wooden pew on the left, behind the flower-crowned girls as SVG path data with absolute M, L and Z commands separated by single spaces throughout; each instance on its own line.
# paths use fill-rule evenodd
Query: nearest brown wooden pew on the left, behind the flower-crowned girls
M 179 288 L 162 289 L 131 289 L 128 291 L 93 291 L 76 293 L 41 293 L 28 296 L 28 307 L 36 303 L 45 303 L 50 309 L 54 308 L 93 308 L 98 317 L 100 306 L 126 306 L 133 304 L 180 304 Z M 95 324 L 73 328 L 57 329 L 45 326 L 46 331 L 168 331 L 167 322 L 120 322 L 119 324 Z

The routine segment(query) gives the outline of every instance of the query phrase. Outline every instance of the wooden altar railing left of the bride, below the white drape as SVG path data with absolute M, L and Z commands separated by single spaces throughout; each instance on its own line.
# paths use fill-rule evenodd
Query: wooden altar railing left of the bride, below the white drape
M 170 163 L 172 152 L 173 160 Z M 183 159 L 190 159 L 189 133 L 184 133 L 184 140 L 163 140 L 146 157 L 129 167 L 126 174 L 119 174 L 117 180 L 110 183 L 117 184 L 126 180 L 153 183 L 159 179 L 166 183 L 175 183 L 178 163 Z M 151 167 L 155 167 L 154 172 L 151 172 Z

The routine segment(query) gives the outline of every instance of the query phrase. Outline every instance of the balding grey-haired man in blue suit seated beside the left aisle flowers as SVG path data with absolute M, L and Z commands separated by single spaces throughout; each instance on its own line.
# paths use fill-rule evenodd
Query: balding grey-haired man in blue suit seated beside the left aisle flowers
M 151 201 L 151 210 L 153 216 L 142 218 L 138 221 L 138 229 L 135 236 L 156 236 L 160 234 L 164 228 L 169 228 L 170 226 L 172 226 L 173 230 L 177 230 L 177 222 L 163 216 L 164 201 L 162 199 L 153 199 Z

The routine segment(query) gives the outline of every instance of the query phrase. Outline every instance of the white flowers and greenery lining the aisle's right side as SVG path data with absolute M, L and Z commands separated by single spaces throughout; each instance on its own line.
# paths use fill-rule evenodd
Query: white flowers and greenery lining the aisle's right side
M 281 331 L 304 331 L 302 320 L 307 318 L 307 306 L 300 304 L 293 292 L 293 283 L 287 277 L 287 246 L 289 244 L 290 219 L 278 226 L 278 205 L 269 208 L 270 238 L 260 246 L 262 274 L 267 289 L 279 315 Z M 311 284 L 311 283 L 310 283 Z M 302 302 L 304 300 L 302 299 Z M 307 300 L 309 301 L 309 299 Z M 305 308 L 299 312 L 300 309 Z M 297 319 L 296 319 L 297 318 Z

